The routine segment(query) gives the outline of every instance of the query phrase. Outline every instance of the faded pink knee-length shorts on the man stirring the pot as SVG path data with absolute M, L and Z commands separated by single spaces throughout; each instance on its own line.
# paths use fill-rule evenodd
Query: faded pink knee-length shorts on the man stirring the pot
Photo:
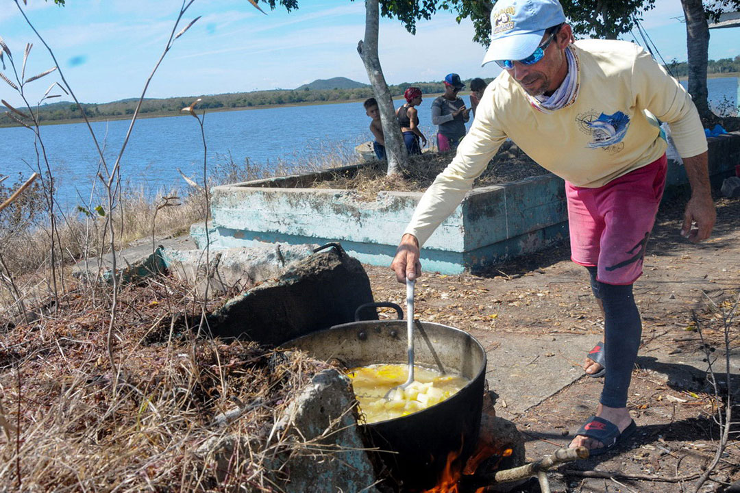
M 665 187 L 665 154 L 599 188 L 565 182 L 571 260 L 598 267 L 596 279 L 628 285 L 642 274 L 642 259 Z

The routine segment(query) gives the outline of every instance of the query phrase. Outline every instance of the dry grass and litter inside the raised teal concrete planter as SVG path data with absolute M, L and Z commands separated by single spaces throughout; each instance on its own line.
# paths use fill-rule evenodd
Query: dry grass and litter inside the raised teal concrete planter
M 357 190 L 361 200 L 374 200 L 378 191 L 424 191 L 453 157 L 450 152 L 428 152 L 409 157 L 408 166 L 400 176 L 388 177 L 384 166 L 371 166 L 360 169 L 353 177 L 317 182 L 314 187 Z M 508 141 L 488 163 L 488 168 L 477 178 L 474 186 L 496 185 L 545 173 L 548 171 Z

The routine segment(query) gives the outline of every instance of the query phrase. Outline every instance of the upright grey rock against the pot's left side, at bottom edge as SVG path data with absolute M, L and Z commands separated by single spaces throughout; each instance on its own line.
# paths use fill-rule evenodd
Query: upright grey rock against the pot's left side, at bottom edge
M 337 370 L 317 373 L 275 425 L 276 443 L 290 443 L 270 469 L 280 491 L 377 493 L 374 467 L 365 452 L 349 378 Z M 317 452 L 323 450 L 321 454 Z

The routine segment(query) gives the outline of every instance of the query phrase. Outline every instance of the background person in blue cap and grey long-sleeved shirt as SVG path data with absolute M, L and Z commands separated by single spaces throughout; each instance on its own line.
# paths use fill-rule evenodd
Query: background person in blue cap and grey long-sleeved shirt
M 437 125 L 437 149 L 440 152 L 457 149 L 457 144 L 465 137 L 465 122 L 470 120 L 470 110 L 457 97 L 463 87 L 465 84 L 460 81 L 460 75 L 447 74 L 445 93 L 431 103 L 431 123 Z

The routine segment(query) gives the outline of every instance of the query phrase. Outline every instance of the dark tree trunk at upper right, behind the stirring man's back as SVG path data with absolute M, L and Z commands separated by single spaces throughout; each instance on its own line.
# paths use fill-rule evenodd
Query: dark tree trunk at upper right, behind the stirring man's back
M 681 0 L 686 18 L 686 46 L 688 50 L 689 84 L 699 116 L 704 120 L 714 118 L 707 101 L 707 58 L 709 57 L 709 24 L 704 15 L 702 0 Z

